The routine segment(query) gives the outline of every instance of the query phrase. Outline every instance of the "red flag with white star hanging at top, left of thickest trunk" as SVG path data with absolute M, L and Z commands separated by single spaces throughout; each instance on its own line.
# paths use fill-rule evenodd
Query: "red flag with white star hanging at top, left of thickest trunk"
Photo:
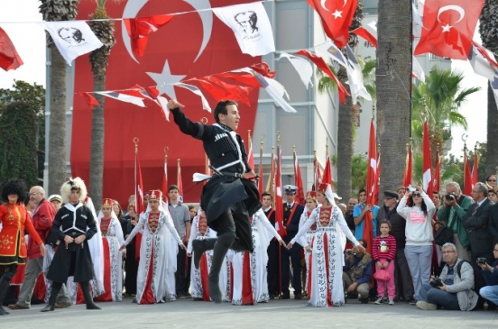
M 358 0 L 308 0 L 308 3 L 320 16 L 327 36 L 338 48 L 346 46 Z

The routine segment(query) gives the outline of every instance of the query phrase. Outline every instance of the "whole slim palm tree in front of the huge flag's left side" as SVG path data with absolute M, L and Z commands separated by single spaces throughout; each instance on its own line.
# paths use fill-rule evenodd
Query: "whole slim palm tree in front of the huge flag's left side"
M 104 43 L 101 48 L 92 51 L 90 64 L 94 79 L 94 90 L 106 90 L 106 68 L 109 54 L 115 45 L 114 21 L 106 13 L 106 0 L 96 0 L 97 10 L 90 15 L 89 25 L 97 38 Z M 102 187 L 104 178 L 104 96 L 95 94 L 98 104 L 93 110 L 92 116 L 92 142 L 90 144 L 90 196 L 96 200 L 102 199 Z

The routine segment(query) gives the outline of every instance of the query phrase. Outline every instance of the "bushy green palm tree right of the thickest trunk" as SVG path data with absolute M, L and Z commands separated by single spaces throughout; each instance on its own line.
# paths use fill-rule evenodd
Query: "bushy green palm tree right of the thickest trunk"
M 429 123 L 429 140 L 432 167 L 436 166 L 438 146 L 444 146 L 451 137 L 453 126 L 466 129 L 466 117 L 458 112 L 466 103 L 468 96 L 480 87 L 462 89 L 464 75 L 449 69 L 432 69 L 425 82 L 413 86 L 412 93 L 412 131 L 415 145 L 422 140 L 424 115 Z

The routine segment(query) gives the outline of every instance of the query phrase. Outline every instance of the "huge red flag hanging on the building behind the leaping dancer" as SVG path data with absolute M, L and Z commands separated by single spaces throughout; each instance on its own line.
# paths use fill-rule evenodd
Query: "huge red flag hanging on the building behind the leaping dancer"
M 147 48 L 142 58 L 132 58 L 133 51 L 126 49 L 130 44 L 122 23 L 115 22 L 115 47 L 111 50 L 107 67 L 106 90 L 133 87 L 156 86 L 158 83 L 146 72 L 163 73 L 155 78 L 183 80 L 208 76 L 231 69 L 243 68 L 261 62 L 261 57 L 251 57 L 239 49 L 235 35 L 224 23 L 217 20 L 211 11 L 197 9 L 235 5 L 252 1 L 242 0 L 128 0 L 121 4 L 107 2 L 110 17 L 145 17 L 154 14 L 179 14 L 159 31 L 149 35 Z M 78 19 L 88 19 L 95 11 L 94 2 L 81 2 Z M 124 14 L 125 13 L 125 14 Z M 166 62 L 167 61 L 167 62 Z M 169 67 L 169 70 L 168 70 Z M 171 74 L 168 76 L 168 74 Z M 175 77 L 176 76 L 176 77 Z M 180 76 L 180 77 L 178 77 Z M 189 82 L 188 82 L 189 83 Z M 193 83 L 195 85 L 195 83 Z M 168 87 L 166 87 L 168 89 Z M 183 88 L 174 90 L 176 98 L 186 105 L 184 111 L 192 121 L 208 118 L 214 123 L 213 115 L 202 110 L 200 98 Z M 93 91 L 93 79 L 88 56 L 76 60 L 75 93 Z M 204 93 L 212 108 L 217 100 Z M 171 95 L 169 95 L 171 96 Z M 258 90 L 249 94 L 252 106 L 239 105 L 242 116 L 239 133 L 246 136 L 248 129 L 254 130 Z M 105 107 L 105 162 L 104 197 L 112 197 L 125 205 L 128 196 L 134 194 L 134 137 L 140 142 L 138 153 L 143 173 L 145 190 L 161 189 L 164 173 L 164 148 L 169 147 L 170 163 L 181 159 L 186 202 L 198 202 L 202 185 L 191 181 L 196 171 L 205 171 L 202 142 L 180 133 L 175 123 L 164 120 L 161 109 L 152 101 L 145 101 L 146 108 L 106 98 Z M 75 96 L 73 107 L 72 142 L 70 151 L 73 176 L 88 181 L 92 112 L 83 97 Z M 172 116 L 171 116 L 172 120 Z M 170 175 L 176 166 L 170 166 Z M 98 202 L 98 201 L 97 201 Z

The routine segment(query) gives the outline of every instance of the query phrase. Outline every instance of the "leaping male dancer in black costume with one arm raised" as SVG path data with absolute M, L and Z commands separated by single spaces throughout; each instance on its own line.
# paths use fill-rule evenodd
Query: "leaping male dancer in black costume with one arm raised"
M 194 266 L 198 268 L 204 251 L 213 250 L 208 285 L 209 296 L 221 303 L 219 271 L 228 249 L 253 251 L 250 216 L 261 208 L 260 196 L 254 184 L 255 174 L 247 163 L 244 142 L 235 133 L 240 121 L 234 101 L 218 102 L 215 111 L 217 123 L 193 123 L 180 110 L 176 100 L 168 101 L 168 108 L 182 133 L 203 142 L 204 151 L 213 167 L 214 176 L 202 189 L 200 206 L 208 218 L 208 226 L 217 232 L 217 238 L 195 240 Z

